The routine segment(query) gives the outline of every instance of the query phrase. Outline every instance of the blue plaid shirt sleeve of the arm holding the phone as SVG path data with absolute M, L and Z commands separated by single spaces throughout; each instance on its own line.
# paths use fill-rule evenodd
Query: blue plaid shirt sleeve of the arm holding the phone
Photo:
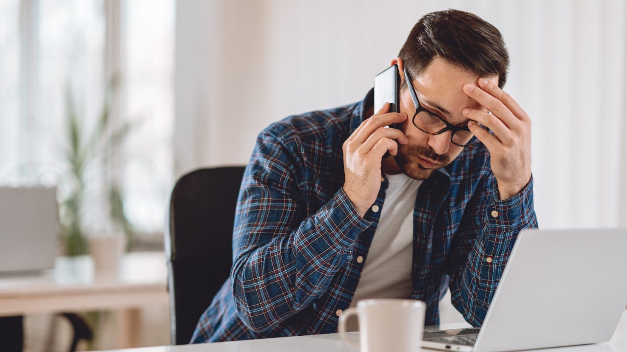
M 261 133 L 236 209 L 233 298 L 242 321 L 258 333 L 324 294 L 357 235 L 371 225 L 341 188 L 307 215 L 307 160 L 290 138 L 277 126 Z

